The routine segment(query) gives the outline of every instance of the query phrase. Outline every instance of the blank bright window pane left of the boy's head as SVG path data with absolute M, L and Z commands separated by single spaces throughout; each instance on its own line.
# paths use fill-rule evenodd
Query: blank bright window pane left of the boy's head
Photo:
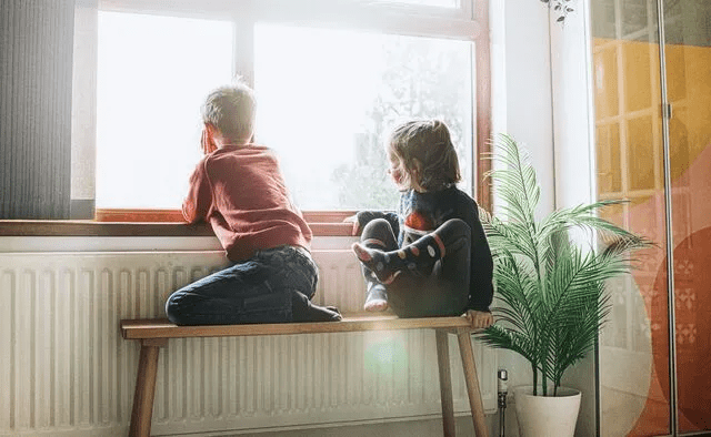
M 101 12 L 97 206 L 179 207 L 200 105 L 231 79 L 230 22 Z

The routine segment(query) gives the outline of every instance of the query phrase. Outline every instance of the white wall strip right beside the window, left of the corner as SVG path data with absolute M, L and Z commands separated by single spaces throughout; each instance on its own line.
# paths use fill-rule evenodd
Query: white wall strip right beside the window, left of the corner
M 508 133 L 530 153 L 541 184 L 540 213 L 553 210 L 553 150 L 548 9 L 531 0 L 491 3 L 493 133 Z M 499 350 L 509 373 L 507 436 L 518 436 L 512 387 L 532 383 L 527 360 Z

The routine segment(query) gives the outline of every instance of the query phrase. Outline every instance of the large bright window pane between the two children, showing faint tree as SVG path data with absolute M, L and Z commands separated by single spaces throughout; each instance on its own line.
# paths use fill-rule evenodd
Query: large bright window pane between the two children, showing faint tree
M 415 116 L 448 123 L 470 192 L 470 42 L 260 24 L 254 52 L 257 138 L 302 210 L 394 209 L 383 133 Z

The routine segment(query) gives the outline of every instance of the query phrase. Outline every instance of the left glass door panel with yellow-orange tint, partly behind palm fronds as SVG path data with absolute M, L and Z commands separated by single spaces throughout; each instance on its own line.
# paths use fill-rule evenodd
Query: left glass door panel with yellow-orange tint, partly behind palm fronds
M 602 215 L 647 236 L 633 274 L 610 284 L 600 337 L 602 436 L 670 433 L 667 220 L 660 45 L 654 1 L 592 1 L 598 199 Z

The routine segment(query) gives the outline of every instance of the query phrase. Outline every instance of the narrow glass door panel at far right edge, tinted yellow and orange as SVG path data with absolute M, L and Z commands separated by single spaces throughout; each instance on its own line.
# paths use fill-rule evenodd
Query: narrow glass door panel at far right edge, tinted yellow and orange
M 664 0 L 679 431 L 711 430 L 711 1 Z

